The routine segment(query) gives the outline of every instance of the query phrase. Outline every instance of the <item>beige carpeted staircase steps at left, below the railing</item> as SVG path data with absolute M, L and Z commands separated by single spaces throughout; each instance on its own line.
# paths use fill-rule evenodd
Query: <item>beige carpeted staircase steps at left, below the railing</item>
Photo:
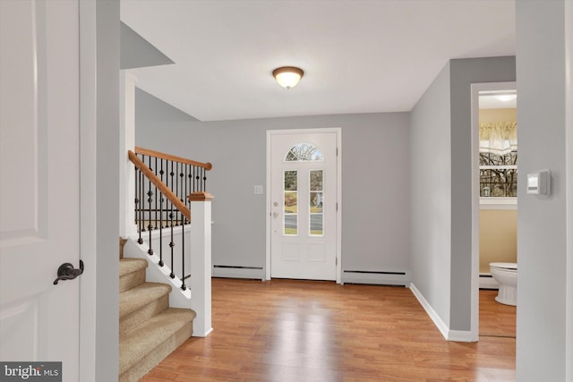
M 171 285 L 146 282 L 146 259 L 119 259 L 119 381 L 140 380 L 192 335 L 195 312 L 169 308 Z

